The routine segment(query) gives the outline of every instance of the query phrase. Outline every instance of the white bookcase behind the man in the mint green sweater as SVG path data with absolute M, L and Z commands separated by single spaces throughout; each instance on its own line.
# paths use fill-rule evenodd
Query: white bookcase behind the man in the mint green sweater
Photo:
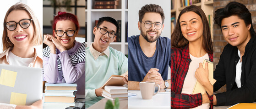
M 115 20 L 121 20 L 121 41 L 112 42 L 109 46 L 121 51 L 123 54 L 128 54 L 128 42 L 125 42 L 125 24 L 128 21 L 128 0 L 119 0 L 117 9 L 94 9 L 94 2 L 95 0 L 87 0 L 87 9 L 85 10 L 87 25 L 86 46 L 89 47 L 94 41 L 93 28 L 95 26 L 95 20 L 109 16 L 113 17 Z

